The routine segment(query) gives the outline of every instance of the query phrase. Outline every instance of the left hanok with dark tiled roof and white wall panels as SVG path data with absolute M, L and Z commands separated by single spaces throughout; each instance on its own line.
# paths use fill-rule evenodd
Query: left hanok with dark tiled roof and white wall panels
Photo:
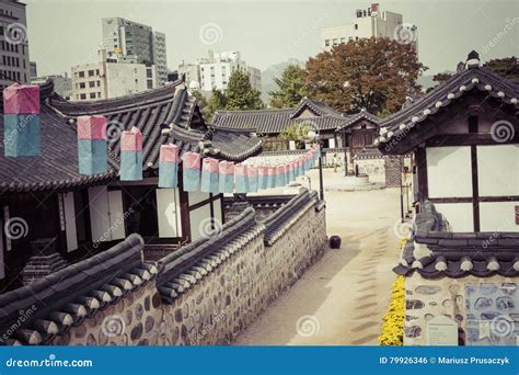
M 157 259 L 201 237 L 214 219 L 223 221 L 222 194 L 158 189 L 161 145 L 177 145 L 181 157 L 196 151 L 235 162 L 262 149 L 261 138 L 247 132 L 209 128 L 182 80 L 90 103 L 61 99 L 49 81 L 41 87 L 41 111 L 42 155 L 0 155 L 0 221 L 5 229 L 0 234 L 1 288 L 20 285 L 22 269 L 31 281 L 132 232 L 145 238 L 145 255 Z M 76 121 L 82 115 L 107 120 L 109 168 L 105 174 L 79 173 Z M 119 181 L 120 134 L 134 126 L 143 136 L 143 179 Z M 27 266 L 32 255 L 38 257 Z

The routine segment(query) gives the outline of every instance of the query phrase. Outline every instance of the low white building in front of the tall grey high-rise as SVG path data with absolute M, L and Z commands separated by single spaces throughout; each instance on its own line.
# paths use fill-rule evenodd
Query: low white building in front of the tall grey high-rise
M 111 99 L 157 87 L 154 66 L 105 50 L 100 56 L 101 63 L 72 67 L 72 100 Z

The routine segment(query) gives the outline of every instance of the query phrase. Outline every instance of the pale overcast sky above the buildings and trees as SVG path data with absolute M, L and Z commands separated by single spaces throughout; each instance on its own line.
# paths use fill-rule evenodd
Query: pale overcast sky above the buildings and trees
M 321 50 L 322 27 L 350 23 L 370 1 L 178 1 L 25 0 L 31 60 L 39 75 L 95 63 L 102 43 L 101 19 L 123 16 L 165 33 L 168 66 L 176 69 L 208 49 L 240 50 L 262 70 L 290 57 L 307 60 Z M 518 56 L 517 0 L 379 1 L 382 10 L 418 26 L 418 50 L 427 73 L 454 70 L 471 49 L 483 60 Z M 205 29 L 203 29 L 205 26 Z M 206 30 L 206 39 L 200 37 Z M 216 32 L 217 42 L 208 44 Z M 499 36 L 500 35 L 500 36 Z M 494 46 L 488 43 L 494 39 Z M 205 42 L 205 43 L 204 43 Z M 488 50 L 487 50 L 488 49 Z M 486 53 L 483 53 L 483 52 Z

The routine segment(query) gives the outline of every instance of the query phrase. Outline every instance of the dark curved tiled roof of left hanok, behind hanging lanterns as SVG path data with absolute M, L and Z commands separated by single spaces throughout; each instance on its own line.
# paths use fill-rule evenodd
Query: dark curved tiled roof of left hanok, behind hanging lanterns
M 262 150 L 262 140 L 251 132 L 206 126 L 196 100 L 183 81 L 128 96 L 93 102 L 68 102 L 54 93 L 51 81 L 41 86 L 42 156 L 5 158 L 0 155 L 0 193 L 73 189 L 101 184 L 118 174 L 119 136 L 138 127 L 143 135 L 143 169 L 157 169 L 160 146 L 176 144 L 181 156 L 200 151 L 206 156 L 241 162 Z M 0 102 L 2 102 L 0 98 Z M 78 170 L 76 118 L 107 118 L 109 170 L 106 174 L 81 175 Z M 0 141 L 3 140 L 3 116 Z

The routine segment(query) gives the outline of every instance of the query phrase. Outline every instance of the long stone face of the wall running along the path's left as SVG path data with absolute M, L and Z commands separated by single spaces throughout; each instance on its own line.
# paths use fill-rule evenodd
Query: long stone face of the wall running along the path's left
M 273 246 L 264 226 L 254 238 L 173 304 L 160 297 L 155 280 L 56 337 L 59 345 L 229 344 L 314 263 L 327 246 L 325 209 L 310 204 L 289 220 Z

